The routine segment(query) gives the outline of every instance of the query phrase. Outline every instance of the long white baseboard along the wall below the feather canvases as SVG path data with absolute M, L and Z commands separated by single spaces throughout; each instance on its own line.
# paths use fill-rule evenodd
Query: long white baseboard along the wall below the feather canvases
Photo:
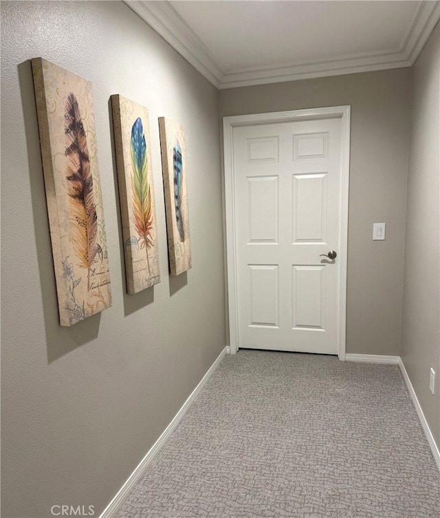
M 208 379 L 210 379 L 214 370 L 217 369 L 217 367 L 219 366 L 219 363 L 225 356 L 227 349 L 228 348 L 225 347 L 221 351 L 221 353 L 219 354 L 219 357 L 216 359 L 216 361 L 214 361 L 214 363 L 212 363 L 208 372 L 206 372 L 206 374 L 201 379 L 199 385 L 197 385 L 197 387 L 195 387 L 195 389 L 192 391 L 192 393 L 190 394 L 188 399 L 185 401 L 184 405 L 182 405 L 179 412 L 177 412 L 177 414 L 175 415 L 175 417 L 173 418 L 171 423 L 168 425 L 168 427 L 166 427 L 166 429 L 164 430 L 162 435 L 153 444 L 151 449 L 148 451 L 148 453 L 145 455 L 145 457 L 138 464 L 135 471 L 133 471 L 133 473 L 131 473 L 129 478 L 126 480 L 126 482 L 124 483 L 122 488 L 120 488 L 120 490 L 115 495 L 115 497 L 111 500 L 109 505 L 102 511 L 100 518 L 112 518 L 118 512 L 118 510 L 120 509 L 122 504 L 125 502 L 126 498 L 129 496 L 129 493 L 134 488 L 135 484 L 137 484 L 137 482 L 139 482 L 140 479 L 142 478 L 142 476 L 144 475 L 144 472 L 145 472 L 148 464 L 150 464 L 150 462 L 153 460 L 155 455 L 162 448 L 162 446 L 164 445 L 166 440 L 168 440 L 170 434 L 173 432 L 175 427 L 177 427 L 177 425 L 179 425 L 181 419 L 184 417 L 184 415 L 188 411 L 189 407 L 191 406 L 191 404 L 194 401 L 197 394 L 199 394 L 199 392 L 201 391 L 203 386 L 206 385 L 206 382 L 208 381 Z

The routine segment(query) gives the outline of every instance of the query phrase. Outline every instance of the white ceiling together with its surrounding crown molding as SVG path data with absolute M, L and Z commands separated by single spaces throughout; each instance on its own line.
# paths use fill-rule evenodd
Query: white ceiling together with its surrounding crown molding
M 410 67 L 440 1 L 125 0 L 217 88 Z

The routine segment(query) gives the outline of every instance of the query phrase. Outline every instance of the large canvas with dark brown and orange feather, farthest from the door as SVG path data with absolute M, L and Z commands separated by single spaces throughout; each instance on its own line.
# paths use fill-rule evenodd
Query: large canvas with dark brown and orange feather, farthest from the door
M 111 306 L 91 83 L 32 59 L 61 326 Z

